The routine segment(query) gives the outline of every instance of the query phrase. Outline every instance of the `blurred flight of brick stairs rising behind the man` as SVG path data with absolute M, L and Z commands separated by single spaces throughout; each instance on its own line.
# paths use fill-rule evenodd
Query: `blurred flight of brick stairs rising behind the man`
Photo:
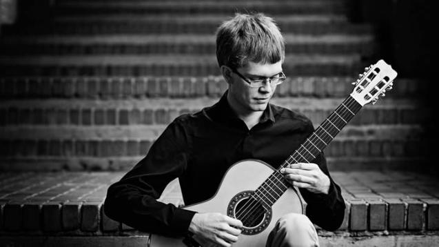
M 315 126 L 376 62 L 371 26 L 349 23 L 342 0 L 60 0 L 49 23 L 2 29 L 0 170 L 131 168 L 172 119 L 225 91 L 214 32 L 236 10 L 277 21 L 288 79 L 274 103 Z M 325 150 L 330 169 L 421 162 L 423 85 L 398 78 L 366 106 Z

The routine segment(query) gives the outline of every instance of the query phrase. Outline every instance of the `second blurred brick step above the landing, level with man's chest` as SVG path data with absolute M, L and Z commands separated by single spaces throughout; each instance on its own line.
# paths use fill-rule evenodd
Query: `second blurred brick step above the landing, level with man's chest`
M 312 117 L 312 116 L 310 116 Z M 317 128 L 320 122 L 315 121 Z M 165 130 L 166 124 L 150 125 L 122 125 L 122 126 L 2 126 L 0 139 L 2 141 L 17 142 L 17 145 L 27 140 L 59 141 L 78 140 L 82 142 L 107 141 L 124 142 L 128 139 L 143 143 L 150 143 Z M 349 124 L 336 139 L 340 141 L 407 141 L 419 140 L 425 135 L 420 123 L 412 124 Z M 6 147 L 6 149 L 8 149 Z

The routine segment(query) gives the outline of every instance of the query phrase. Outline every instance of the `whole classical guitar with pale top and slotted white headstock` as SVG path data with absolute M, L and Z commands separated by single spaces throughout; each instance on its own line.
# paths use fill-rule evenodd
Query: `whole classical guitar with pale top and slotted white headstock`
M 198 213 L 222 213 L 241 220 L 241 235 L 233 246 L 265 246 L 270 231 L 280 217 L 287 213 L 305 214 L 303 197 L 298 188 L 285 181 L 280 169 L 289 164 L 313 161 L 363 106 L 376 103 L 379 96 L 383 97 L 386 90 L 391 90 L 396 75 L 396 71 L 383 60 L 365 68 L 359 79 L 352 83 L 355 88 L 349 97 L 277 170 L 260 160 L 239 161 L 227 170 L 214 197 L 184 208 Z M 181 238 L 150 235 L 148 246 L 200 245 L 189 235 Z

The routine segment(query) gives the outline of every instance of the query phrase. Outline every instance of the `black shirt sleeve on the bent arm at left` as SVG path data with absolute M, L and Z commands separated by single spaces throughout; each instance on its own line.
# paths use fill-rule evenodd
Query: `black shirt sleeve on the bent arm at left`
M 194 212 L 157 201 L 170 181 L 185 170 L 187 135 L 172 122 L 146 157 L 108 188 L 104 210 L 108 217 L 150 233 L 183 236 Z

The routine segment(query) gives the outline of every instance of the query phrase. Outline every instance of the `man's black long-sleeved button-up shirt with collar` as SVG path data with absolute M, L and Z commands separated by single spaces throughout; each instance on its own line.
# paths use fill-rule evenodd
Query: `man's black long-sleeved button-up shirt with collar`
M 227 102 L 177 117 L 154 142 L 146 157 L 108 188 L 105 214 L 139 230 L 185 235 L 194 212 L 156 201 L 178 177 L 186 205 L 210 199 L 227 169 L 242 159 L 260 159 L 278 168 L 314 127 L 307 117 L 269 104 L 251 130 Z M 314 161 L 329 176 L 323 154 Z M 343 221 L 345 202 L 329 176 L 329 194 L 300 189 L 307 216 L 335 230 Z

